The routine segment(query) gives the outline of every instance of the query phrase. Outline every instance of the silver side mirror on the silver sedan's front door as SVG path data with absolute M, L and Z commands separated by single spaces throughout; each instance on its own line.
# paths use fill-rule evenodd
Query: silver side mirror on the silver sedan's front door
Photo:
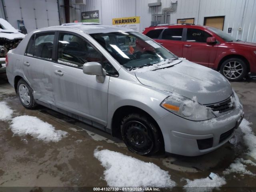
M 96 81 L 104 83 L 106 70 L 102 68 L 102 65 L 98 62 L 87 62 L 83 65 L 83 72 L 86 75 L 96 75 Z

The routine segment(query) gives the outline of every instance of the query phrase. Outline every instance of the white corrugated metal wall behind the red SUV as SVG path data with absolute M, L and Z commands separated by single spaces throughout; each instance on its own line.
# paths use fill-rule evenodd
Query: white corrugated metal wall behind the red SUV
M 174 1 L 174 0 L 172 0 Z M 237 39 L 256 42 L 256 0 L 177 0 L 176 12 L 171 13 L 170 23 L 177 19 L 195 18 L 195 24 L 204 24 L 204 17 L 225 16 L 224 32 L 232 28 L 231 35 Z M 111 25 L 112 18 L 140 16 L 140 31 L 150 26 L 151 9 L 148 3 L 157 0 L 87 0 L 81 12 L 99 10 L 100 23 Z M 171 0 L 162 0 L 162 8 L 170 7 Z M 238 28 L 242 27 L 242 31 Z

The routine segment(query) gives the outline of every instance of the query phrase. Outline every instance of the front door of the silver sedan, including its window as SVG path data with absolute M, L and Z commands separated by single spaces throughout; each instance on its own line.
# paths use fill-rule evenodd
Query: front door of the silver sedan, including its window
M 86 62 L 102 64 L 106 59 L 84 37 L 70 32 L 58 33 L 56 51 L 52 69 L 55 106 L 106 126 L 110 76 L 99 83 L 96 76 L 82 70 Z

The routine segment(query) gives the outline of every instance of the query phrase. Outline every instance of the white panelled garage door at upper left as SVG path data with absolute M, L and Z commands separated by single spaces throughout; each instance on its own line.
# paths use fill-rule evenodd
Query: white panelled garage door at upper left
M 28 32 L 60 24 L 57 0 L 4 0 L 6 20 L 18 28 L 17 20 L 24 20 Z

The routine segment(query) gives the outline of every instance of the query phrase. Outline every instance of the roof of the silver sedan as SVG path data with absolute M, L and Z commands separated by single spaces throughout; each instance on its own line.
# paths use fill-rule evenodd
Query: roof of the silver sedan
M 115 26 L 107 26 L 107 25 L 64 25 L 64 26 L 51 26 L 39 29 L 40 32 L 42 31 L 49 31 L 49 30 L 82 30 L 88 34 L 94 33 L 110 33 L 110 32 L 135 32 L 132 29 L 122 28 L 122 27 L 115 27 Z

